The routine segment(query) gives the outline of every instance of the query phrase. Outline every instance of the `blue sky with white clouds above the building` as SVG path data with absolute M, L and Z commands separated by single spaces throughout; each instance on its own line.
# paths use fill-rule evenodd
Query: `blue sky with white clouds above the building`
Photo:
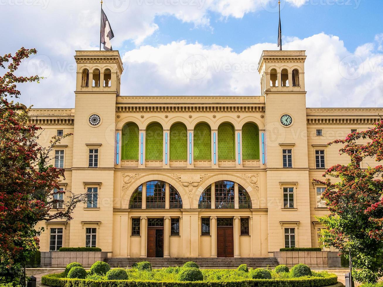
M 276 3 L 104 0 L 111 42 L 124 62 L 122 95 L 259 95 L 251 67 L 262 50 L 277 49 Z M 308 56 L 307 106 L 383 107 L 383 1 L 282 0 L 281 7 L 283 48 Z M 0 0 L 0 9 L 0 24 L 10 32 L 0 53 L 35 47 L 38 55 L 20 73 L 46 77 L 21 86 L 20 100 L 74 107 L 73 55 L 98 49 L 99 1 Z M 185 70 L 196 59 L 206 64 L 198 78 Z

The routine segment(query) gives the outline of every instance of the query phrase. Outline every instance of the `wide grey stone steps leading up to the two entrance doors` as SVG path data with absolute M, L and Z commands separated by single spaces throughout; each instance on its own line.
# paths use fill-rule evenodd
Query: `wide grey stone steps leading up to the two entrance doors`
M 205 269 L 231 269 L 241 264 L 247 264 L 249 268 L 275 267 L 278 260 L 275 257 L 262 258 L 108 258 L 105 260 L 110 267 L 132 267 L 139 261 L 149 261 L 153 268 L 169 266 L 182 266 L 187 261 L 197 263 Z

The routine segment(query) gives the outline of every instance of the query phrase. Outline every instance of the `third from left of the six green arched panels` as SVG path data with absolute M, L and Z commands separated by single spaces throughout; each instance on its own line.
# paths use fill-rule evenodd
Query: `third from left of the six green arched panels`
M 170 127 L 170 160 L 188 159 L 188 131 L 182 123 Z

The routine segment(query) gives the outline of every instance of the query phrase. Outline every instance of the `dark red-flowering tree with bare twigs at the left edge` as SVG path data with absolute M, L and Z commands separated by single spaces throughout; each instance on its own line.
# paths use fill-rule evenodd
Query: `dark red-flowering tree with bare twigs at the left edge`
M 19 282 L 21 268 L 39 248 L 38 236 L 43 229 L 35 229 L 41 220 L 72 219 L 70 214 L 83 194 L 68 196 L 65 211 L 53 208 L 53 190 L 59 189 L 64 170 L 54 168 L 52 147 L 62 137 L 52 138 L 48 147 L 38 143 L 42 130 L 31 124 L 29 109 L 9 101 L 18 98 L 17 84 L 39 82 L 41 77 L 16 76 L 23 59 L 36 54 L 35 49 L 21 48 L 15 55 L 0 56 L 0 282 Z

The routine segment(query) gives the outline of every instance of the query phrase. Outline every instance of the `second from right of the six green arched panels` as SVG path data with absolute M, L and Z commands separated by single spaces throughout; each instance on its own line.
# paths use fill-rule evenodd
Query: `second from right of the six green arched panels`
M 218 127 L 218 160 L 235 160 L 234 127 L 229 123 Z

